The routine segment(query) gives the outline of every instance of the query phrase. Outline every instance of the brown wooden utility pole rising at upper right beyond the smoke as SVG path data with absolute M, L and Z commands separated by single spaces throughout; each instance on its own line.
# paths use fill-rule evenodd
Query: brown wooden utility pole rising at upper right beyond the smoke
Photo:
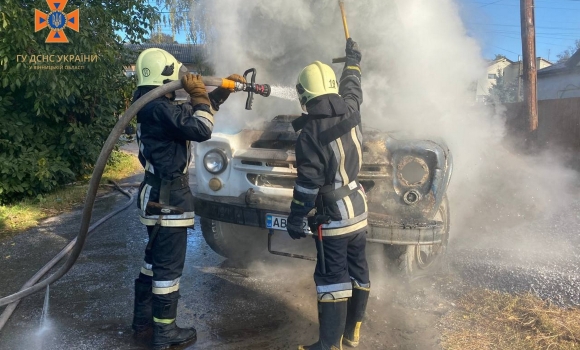
M 538 128 L 538 75 L 536 68 L 536 20 L 534 0 L 520 0 L 524 105 L 529 117 L 529 131 Z

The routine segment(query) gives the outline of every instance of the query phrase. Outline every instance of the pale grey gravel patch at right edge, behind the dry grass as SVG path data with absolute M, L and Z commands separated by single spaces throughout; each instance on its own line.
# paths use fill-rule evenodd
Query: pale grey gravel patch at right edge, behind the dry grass
M 513 227 L 461 237 L 450 261 L 463 283 L 531 292 L 560 306 L 580 306 L 580 200 Z

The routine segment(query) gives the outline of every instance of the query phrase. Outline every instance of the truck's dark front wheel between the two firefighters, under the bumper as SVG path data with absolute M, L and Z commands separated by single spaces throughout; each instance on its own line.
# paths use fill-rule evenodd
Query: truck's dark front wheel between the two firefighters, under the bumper
M 256 260 L 268 247 L 268 231 L 259 227 L 201 218 L 201 233 L 214 252 L 232 260 Z

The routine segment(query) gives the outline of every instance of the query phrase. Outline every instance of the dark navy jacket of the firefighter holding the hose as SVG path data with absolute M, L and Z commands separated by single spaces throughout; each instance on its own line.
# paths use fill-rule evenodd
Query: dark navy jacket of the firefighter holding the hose
M 139 87 L 133 102 L 154 87 Z M 137 113 L 139 161 L 145 168 L 145 180 L 139 187 L 137 206 L 141 222 L 155 225 L 158 215 L 146 212 L 149 201 L 183 209 L 183 214 L 163 215 L 161 226 L 193 225 L 193 196 L 189 188 L 191 141 L 203 142 L 211 137 L 215 110 L 205 104 L 186 102 L 174 105 L 159 97 Z M 163 190 L 162 190 L 163 189 Z

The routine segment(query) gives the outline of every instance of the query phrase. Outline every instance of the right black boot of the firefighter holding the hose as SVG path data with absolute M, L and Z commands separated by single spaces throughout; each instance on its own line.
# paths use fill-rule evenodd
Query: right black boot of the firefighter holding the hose
M 197 340 L 195 328 L 179 328 L 175 324 L 177 300 L 162 301 L 153 298 L 153 349 L 167 349 L 171 345 Z

